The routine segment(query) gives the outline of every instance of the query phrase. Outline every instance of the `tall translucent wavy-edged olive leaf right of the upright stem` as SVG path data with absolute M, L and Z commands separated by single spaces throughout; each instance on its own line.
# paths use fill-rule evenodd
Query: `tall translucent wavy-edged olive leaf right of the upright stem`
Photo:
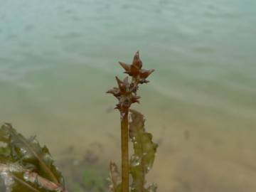
M 132 174 L 132 192 L 153 192 L 155 185 L 146 187 L 146 174 L 154 164 L 157 144 L 152 142 L 152 134 L 145 131 L 143 114 L 129 110 L 129 137 L 134 146 L 134 154 L 130 159 L 130 173 Z

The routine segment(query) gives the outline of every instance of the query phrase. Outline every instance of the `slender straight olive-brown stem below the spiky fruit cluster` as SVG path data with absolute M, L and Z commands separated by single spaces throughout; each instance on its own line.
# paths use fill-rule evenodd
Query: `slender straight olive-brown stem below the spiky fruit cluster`
M 129 192 L 128 111 L 121 113 L 122 192 Z

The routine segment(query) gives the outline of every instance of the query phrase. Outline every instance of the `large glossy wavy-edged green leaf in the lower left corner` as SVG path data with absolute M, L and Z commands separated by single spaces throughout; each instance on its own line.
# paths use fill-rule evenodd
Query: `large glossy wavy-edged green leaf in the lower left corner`
M 41 147 L 36 137 L 26 139 L 11 124 L 4 124 L 0 144 L 0 176 L 7 192 L 65 191 L 63 176 L 47 147 Z

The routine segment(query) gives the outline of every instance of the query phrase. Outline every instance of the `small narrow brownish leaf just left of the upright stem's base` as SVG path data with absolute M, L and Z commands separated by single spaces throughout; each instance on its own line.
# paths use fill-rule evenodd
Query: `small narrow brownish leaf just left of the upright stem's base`
M 110 191 L 121 192 L 122 191 L 122 179 L 117 169 L 117 165 L 114 162 L 110 162 Z

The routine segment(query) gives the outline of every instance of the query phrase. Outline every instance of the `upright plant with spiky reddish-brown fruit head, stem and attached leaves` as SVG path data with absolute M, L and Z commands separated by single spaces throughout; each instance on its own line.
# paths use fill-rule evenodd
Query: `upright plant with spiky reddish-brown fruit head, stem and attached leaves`
M 137 90 L 139 84 L 149 82 L 146 78 L 154 70 L 142 69 L 142 60 L 139 58 L 139 52 L 135 53 L 132 64 L 119 62 L 124 68 L 124 73 L 132 77 L 119 80 L 116 77 L 118 87 L 108 90 L 107 93 L 114 95 L 118 103 L 115 109 L 120 112 L 121 119 L 121 146 L 122 146 L 122 179 L 120 179 L 117 165 L 110 163 L 110 177 L 113 192 L 129 192 L 129 174 L 132 174 L 132 192 L 156 191 L 156 185 L 146 187 L 145 175 L 151 169 L 156 154 L 157 144 L 152 142 L 152 135 L 145 132 L 144 116 L 129 108 L 135 102 L 139 102 Z M 128 115 L 131 122 L 128 123 Z M 134 154 L 129 160 L 129 138 L 132 141 Z

